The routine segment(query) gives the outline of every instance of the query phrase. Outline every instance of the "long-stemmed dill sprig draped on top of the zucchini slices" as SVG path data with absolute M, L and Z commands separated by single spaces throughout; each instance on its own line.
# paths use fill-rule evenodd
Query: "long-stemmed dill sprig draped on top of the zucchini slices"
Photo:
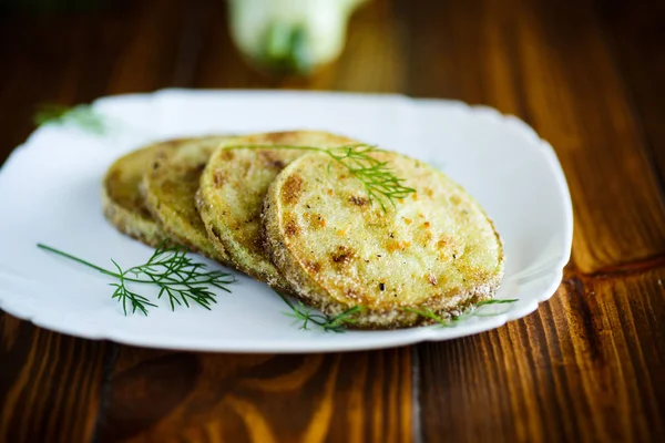
M 408 197 L 416 189 L 405 186 L 405 179 L 391 171 L 388 162 L 381 162 L 371 154 L 381 152 L 376 146 L 352 144 L 337 147 L 295 146 L 295 145 L 237 145 L 227 148 L 249 150 L 297 150 L 313 151 L 328 155 L 365 186 L 369 202 L 377 202 L 383 212 L 387 205 L 395 207 L 395 202 Z

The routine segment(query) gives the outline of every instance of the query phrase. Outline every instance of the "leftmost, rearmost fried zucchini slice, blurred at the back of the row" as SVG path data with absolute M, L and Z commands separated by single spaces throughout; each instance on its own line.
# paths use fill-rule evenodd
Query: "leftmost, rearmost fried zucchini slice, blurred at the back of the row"
M 153 219 L 143 204 L 140 186 L 143 173 L 158 150 L 171 148 L 173 142 L 156 143 L 133 151 L 111 165 L 103 181 L 104 216 L 121 233 L 149 246 L 160 246 L 168 235 Z

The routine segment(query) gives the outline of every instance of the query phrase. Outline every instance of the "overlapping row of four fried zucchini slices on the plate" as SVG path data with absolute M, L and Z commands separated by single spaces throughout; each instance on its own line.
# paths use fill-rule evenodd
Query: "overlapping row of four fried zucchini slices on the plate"
M 503 249 L 480 205 L 401 154 L 361 148 L 382 165 L 367 172 L 348 156 L 359 146 L 315 131 L 156 143 L 110 167 L 104 214 L 147 245 L 184 245 L 326 315 L 360 306 L 358 328 L 417 326 L 431 319 L 416 311 L 446 318 L 491 299 Z

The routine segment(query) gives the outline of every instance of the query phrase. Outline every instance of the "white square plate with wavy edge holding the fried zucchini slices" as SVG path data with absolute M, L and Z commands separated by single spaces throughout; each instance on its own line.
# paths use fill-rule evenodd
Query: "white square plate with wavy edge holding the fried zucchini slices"
M 552 147 L 523 122 L 488 107 L 400 95 L 165 90 L 100 99 L 110 135 L 45 126 L 0 173 L 0 308 L 58 332 L 154 348 L 318 352 L 447 340 L 524 317 L 554 293 L 572 241 L 572 206 Z M 463 185 L 495 222 L 507 267 L 499 298 L 519 301 L 457 327 L 397 331 L 300 330 L 265 285 L 238 275 L 212 311 L 123 316 L 110 280 L 35 247 L 44 243 L 103 266 L 139 265 L 152 250 L 102 217 L 101 177 L 152 140 L 289 128 L 326 130 L 429 162 Z M 216 265 L 213 265 L 216 266 Z M 145 288 L 142 288 L 144 290 Z M 149 288 L 150 289 L 150 288 Z M 490 307 L 488 307 L 490 308 Z

